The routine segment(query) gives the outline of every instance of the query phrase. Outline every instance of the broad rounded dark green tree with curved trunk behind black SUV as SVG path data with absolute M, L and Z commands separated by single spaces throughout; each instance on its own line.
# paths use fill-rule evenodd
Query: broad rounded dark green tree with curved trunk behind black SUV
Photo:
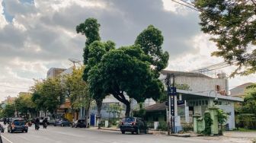
M 164 89 L 150 68 L 150 57 L 139 46 L 112 49 L 104 54 L 101 62 L 91 68 L 88 81 L 95 81 L 99 88 L 95 93 L 112 94 L 126 105 L 126 116 L 130 116 L 130 100 L 143 102 L 146 98 L 158 99 Z M 99 76 L 100 75 L 100 76 Z M 103 88 L 101 88 L 103 87 Z

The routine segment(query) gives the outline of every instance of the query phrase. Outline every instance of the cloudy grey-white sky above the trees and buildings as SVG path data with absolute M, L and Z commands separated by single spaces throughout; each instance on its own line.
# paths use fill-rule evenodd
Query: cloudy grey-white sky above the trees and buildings
M 120 46 L 134 43 L 149 24 L 165 38 L 166 69 L 191 71 L 223 60 L 210 35 L 200 31 L 198 11 L 171 0 L 0 0 L 0 100 L 28 91 L 49 68 L 69 68 L 82 60 L 85 36 L 75 27 L 88 17 L 101 24 L 101 39 Z M 219 69 L 230 73 L 235 67 Z M 229 87 L 254 82 L 256 75 L 229 79 Z

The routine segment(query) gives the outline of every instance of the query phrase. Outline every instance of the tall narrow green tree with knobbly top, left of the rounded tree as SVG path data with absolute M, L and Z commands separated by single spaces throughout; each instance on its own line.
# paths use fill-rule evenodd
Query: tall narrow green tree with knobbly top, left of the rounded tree
M 82 33 L 85 35 L 86 42 L 84 48 L 84 64 L 85 70 L 83 73 L 83 79 L 88 82 L 89 91 L 93 99 L 96 101 L 98 116 L 101 115 L 101 106 L 102 100 L 107 96 L 103 92 L 101 83 L 98 82 L 98 78 L 101 78 L 101 75 L 98 75 L 94 78 L 94 81 L 88 80 L 88 72 L 91 71 L 91 68 L 97 66 L 101 62 L 102 56 L 109 51 L 114 49 L 115 43 L 107 41 L 106 43 L 101 42 L 101 37 L 99 34 L 100 24 L 98 24 L 97 19 L 88 18 L 84 23 L 79 24 L 76 27 L 77 33 Z

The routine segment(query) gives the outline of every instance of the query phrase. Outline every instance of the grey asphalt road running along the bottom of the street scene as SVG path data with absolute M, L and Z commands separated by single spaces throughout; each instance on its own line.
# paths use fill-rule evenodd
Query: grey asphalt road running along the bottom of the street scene
M 181 138 L 166 135 L 131 135 L 127 133 L 122 135 L 120 132 L 99 131 L 97 129 L 75 129 L 70 127 L 48 126 L 43 129 L 40 126 L 39 131 L 30 127 L 27 133 L 2 133 L 4 143 L 211 143 L 200 138 Z M 222 141 L 217 141 L 222 142 Z M 226 142 L 226 141 L 225 141 Z

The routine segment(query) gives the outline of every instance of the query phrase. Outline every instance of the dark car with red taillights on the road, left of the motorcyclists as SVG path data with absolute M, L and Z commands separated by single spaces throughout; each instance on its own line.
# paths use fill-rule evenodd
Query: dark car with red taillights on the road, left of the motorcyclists
M 8 132 L 27 132 L 28 126 L 26 120 L 22 118 L 11 119 L 10 124 L 8 125 Z

